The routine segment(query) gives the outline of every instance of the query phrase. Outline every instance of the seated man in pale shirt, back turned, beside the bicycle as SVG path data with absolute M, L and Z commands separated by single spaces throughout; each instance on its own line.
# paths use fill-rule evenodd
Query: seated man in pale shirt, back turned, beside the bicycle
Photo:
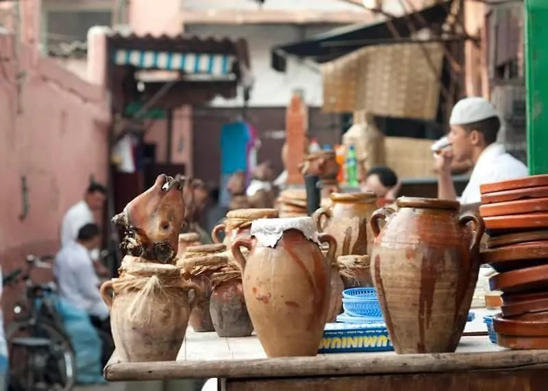
M 55 256 L 53 274 L 62 299 L 68 301 L 90 317 L 92 325 L 111 336 L 109 310 L 99 291 L 99 277 L 95 273 L 90 251 L 100 244 L 99 226 L 88 223 L 80 228 L 77 240 L 64 246 Z M 99 334 L 101 336 L 101 334 Z M 103 364 L 112 351 L 105 351 Z

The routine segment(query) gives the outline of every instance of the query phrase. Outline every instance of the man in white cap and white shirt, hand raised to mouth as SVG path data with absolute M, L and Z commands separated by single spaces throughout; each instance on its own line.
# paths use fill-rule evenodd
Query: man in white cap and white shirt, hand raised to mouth
M 451 112 L 449 125 L 451 131 L 447 137 L 451 149 L 443 149 L 436 155 L 439 199 L 458 200 L 461 205 L 475 207 L 481 202 L 480 185 L 529 175 L 527 166 L 497 143 L 501 120 L 486 99 L 468 97 L 458 101 Z M 474 169 L 458 198 L 451 177 L 451 162 L 467 159 L 473 162 Z

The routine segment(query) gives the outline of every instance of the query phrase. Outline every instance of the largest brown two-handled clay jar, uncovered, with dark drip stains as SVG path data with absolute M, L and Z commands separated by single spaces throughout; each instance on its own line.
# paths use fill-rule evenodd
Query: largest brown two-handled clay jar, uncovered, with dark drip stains
M 455 201 L 396 202 L 397 212 L 380 209 L 371 217 L 371 275 L 390 338 L 397 353 L 453 352 L 477 281 L 483 220 L 460 215 Z

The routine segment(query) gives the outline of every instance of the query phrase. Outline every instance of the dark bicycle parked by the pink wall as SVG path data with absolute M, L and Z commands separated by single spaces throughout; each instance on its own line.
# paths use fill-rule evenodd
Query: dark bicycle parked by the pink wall
M 69 391 L 75 384 L 75 355 L 55 310 L 55 283 L 35 284 L 32 268 L 51 269 L 53 256 L 27 256 L 27 270 L 16 269 L 3 277 L 4 286 L 23 281 L 25 292 L 15 303 L 14 320 L 6 327 L 10 357 L 10 391 Z M 27 305 L 28 303 L 28 305 Z M 23 336 L 18 336 L 22 333 Z M 15 368 L 16 353 L 26 353 L 23 368 Z M 21 370 L 19 370 L 21 369 Z

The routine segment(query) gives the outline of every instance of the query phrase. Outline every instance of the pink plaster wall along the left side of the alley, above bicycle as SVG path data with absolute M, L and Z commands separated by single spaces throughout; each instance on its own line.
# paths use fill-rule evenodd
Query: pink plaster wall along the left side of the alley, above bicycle
M 0 264 L 5 272 L 21 267 L 29 253 L 57 251 L 66 209 L 82 199 L 90 175 L 106 181 L 109 119 L 99 87 L 27 45 L 15 60 L 13 42 L 0 35 Z M 24 75 L 19 97 L 17 71 Z M 29 189 L 24 220 L 19 218 L 21 175 Z M 17 297 L 9 292 L 3 295 L 4 309 Z

